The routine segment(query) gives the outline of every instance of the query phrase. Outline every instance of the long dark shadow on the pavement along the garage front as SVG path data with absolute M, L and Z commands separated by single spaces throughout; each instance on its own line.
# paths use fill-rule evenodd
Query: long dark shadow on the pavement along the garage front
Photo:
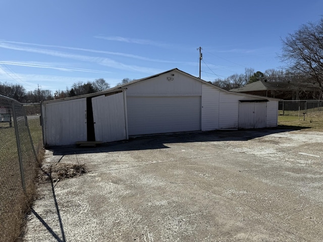
M 53 155 L 88 154 L 101 152 L 168 149 L 165 144 L 209 141 L 247 141 L 270 134 L 307 129 L 307 127 L 279 126 L 272 129 L 217 130 L 208 132 L 181 132 L 130 137 L 129 140 L 101 144 L 98 147 L 77 146 L 52 147 Z

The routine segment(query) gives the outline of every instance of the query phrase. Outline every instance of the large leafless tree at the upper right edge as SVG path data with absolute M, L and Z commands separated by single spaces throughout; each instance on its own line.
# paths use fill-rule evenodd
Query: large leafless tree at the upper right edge
M 307 74 L 323 93 L 323 18 L 317 23 L 302 25 L 282 39 L 282 61 L 293 73 Z

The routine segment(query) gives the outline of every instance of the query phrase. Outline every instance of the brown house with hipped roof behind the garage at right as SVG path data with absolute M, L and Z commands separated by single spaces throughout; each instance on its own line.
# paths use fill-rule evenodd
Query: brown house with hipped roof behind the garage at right
M 253 82 L 230 91 L 284 100 L 317 99 L 319 96 L 319 87 L 312 83 L 269 82 L 266 80 Z

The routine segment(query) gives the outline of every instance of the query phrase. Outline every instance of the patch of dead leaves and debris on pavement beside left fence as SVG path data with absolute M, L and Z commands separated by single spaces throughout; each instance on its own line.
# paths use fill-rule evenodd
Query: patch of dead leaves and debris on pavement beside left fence
M 50 182 L 80 176 L 87 172 L 85 164 L 44 165 L 38 175 L 39 182 Z

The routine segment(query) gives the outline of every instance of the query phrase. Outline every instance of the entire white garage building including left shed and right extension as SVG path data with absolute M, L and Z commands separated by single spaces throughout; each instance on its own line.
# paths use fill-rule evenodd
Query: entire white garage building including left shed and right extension
M 276 127 L 278 101 L 230 92 L 172 69 L 106 92 L 44 102 L 44 142 L 52 146 L 133 135 Z M 92 113 L 93 120 L 85 113 Z M 62 125 L 57 125 L 58 117 L 64 119 Z

